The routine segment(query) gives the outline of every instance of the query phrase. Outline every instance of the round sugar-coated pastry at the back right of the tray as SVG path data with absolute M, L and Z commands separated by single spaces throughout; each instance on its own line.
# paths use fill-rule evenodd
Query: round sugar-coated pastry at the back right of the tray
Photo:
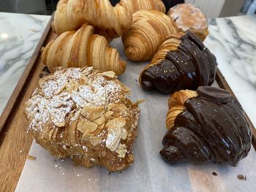
M 177 4 L 170 8 L 167 15 L 173 18 L 178 28 L 192 31 L 202 42 L 208 36 L 206 15 L 193 4 Z

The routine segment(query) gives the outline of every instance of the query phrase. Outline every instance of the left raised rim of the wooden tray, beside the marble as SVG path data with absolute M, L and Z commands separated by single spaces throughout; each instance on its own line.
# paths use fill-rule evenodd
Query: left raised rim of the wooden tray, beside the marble
M 31 58 L 29 59 L 28 64 L 26 65 L 26 68 L 23 72 L 23 74 L 20 77 L 20 80 L 18 81 L 14 91 L 12 92 L 12 95 L 10 96 L 9 101 L 7 102 L 7 105 L 4 107 L 4 111 L 1 114 L 0 117 L 0 134 L 2 129 L 4 128 L 4 125 L 6 124 L 8 118 L 10 117 L 10 114 L 12 113 L 12 109 L 15 106 L 16 101 L 18 100 L 18 96 L 20 96 L 20 92 L 23 90 L 24 85 L 26 84 L 26 81 L 28 80 L 30 74 L 31 74 L 31 69 L 33 69 L 34 64 L 36 63 L 35 61 L 37 60 L 41 47 L 45 42 L 45 39 L 48 37 L 48 33 L 51 28 L 51 23 L 53 22 L 54 18 L 54 13 L 51 16 L 48 25 L 45 28 L 45 31 L 42 34 L 42 37 L 40 38 L 36 49 L 34 50 L 33 55 L 31 55 Z

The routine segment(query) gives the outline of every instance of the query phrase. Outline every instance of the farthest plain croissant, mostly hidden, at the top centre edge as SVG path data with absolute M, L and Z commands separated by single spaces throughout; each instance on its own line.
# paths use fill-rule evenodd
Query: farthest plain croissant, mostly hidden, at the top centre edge
M 121 0 L 117 5 L 121 5 L 131 14 L 138 10 L 151 9 L 165 13 L 165 4 L 161 0 Z

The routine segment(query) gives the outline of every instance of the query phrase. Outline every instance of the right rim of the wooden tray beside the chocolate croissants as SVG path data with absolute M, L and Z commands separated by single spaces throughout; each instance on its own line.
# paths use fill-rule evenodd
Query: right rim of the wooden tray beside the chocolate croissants
M 220 88 L 224 88 L 225 90 L 227 90 L 228 92 L 230 92 L 230 94 L 236 98 L 235 93 L 232 91 L 232 89 L 230 88 L 230 85 L 228 85 L 227 81 L 225 80 L 225 77 L 223 76 L 222 72 L 219 71 L 219 68 L 217 69 L 217 76 L 216 76 L 216 81 L 219 85 Z M 237 98 L 236 98 L 237 99 Z M 238 99 L 237 99 L 238 100 Z M 239 102 L 239 101 L 238 101 Z M 239 102 L 240 103 L 240 102 Z M 256 129 L 255 126 L 252 124 L 252 121 L 250 120 L 249 116 L 246 114 L 246 112 L 244 111 L 244 115 L 246 117 L 246 119 L 249 122 L 249 126 L 252 129 L 252 146 L 255 148 L 256 150 Z

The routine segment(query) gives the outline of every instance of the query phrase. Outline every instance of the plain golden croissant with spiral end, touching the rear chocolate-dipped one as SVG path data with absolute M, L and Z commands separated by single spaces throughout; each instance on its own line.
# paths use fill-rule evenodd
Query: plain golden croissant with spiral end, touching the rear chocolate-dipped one
M 140 10 L 132 15 L 132 26 L 122 36 L 124 50 L 132 61 L 153 58 L 165 37 L 178 33 L 176 24 L 162 12 Z

